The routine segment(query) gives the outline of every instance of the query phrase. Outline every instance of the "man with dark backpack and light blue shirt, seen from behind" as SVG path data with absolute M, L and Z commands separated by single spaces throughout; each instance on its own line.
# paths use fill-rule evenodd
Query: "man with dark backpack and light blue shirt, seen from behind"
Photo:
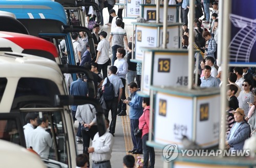
M 104 111 L 105 118 L 109 118 L 109 111 L 111 110 L 112 121 L 110 124 L 110 133 L 114 136 L 116 129 L 116 116 L 117 105 L 121 100 L 123 83 L 122 80 L 117 77 L 117 67 L 110 66 L 109 77 L 104 79 L 102 84 L 103 97 L 108 109 Z

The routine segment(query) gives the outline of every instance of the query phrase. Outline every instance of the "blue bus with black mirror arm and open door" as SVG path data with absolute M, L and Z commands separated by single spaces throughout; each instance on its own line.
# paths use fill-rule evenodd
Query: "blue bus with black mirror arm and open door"
M 0 10 L 12 12 L 23 23 L 30 35 L 53 42 L 59 50 L 60 59 L 66 59 L 59 49 L 65 40 L 69 64 L 75 65 L 75 57 L 70 32 L 84 31 L 88 35 L 90 52 L 95 57 L 95 47 L 91 31 L 80 26 L 68 26 L 66 12 L 61 4 L 53 1 L 0 1 Z

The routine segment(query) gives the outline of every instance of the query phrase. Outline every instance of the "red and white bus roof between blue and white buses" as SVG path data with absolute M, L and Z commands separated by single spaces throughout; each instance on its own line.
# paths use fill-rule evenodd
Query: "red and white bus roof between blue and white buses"
M 26 34 L 0 31 L 0 43 L 0 51 L 45 57 L 60 64 L 56 46 L 42 38 Z

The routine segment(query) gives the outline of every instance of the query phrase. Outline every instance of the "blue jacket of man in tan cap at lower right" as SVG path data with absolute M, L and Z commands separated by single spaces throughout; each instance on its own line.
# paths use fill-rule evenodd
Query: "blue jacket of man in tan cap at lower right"
M 237 130 L 234 132 L 233 138 L 229 139 L 230 133 L 233 128 L 234 125 L 232 126 L 229 134 L 226 137 L 226 140 L 228 140 L 228 145 L 231 148 L 234 148 L 235 150 L 242 150 L 244 147 L 244 141 L 250 136 L 250 126 L 243 121 L 241 125 L 237 128 Z

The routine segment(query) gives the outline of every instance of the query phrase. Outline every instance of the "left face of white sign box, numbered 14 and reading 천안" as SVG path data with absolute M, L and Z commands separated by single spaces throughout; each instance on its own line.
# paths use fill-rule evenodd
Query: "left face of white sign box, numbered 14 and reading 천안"
M 191 98 L 157 92 L 155 101 L 155 142 L 162 145 L 176 143 L 181 146 L 180 140 L 183 135 L 188 138 L 192 137 L 192 102 Z M 180 110 L 180 107 L 182 107 L 182 110 Z M 163 129 L 168 129 L 168 134 Z

